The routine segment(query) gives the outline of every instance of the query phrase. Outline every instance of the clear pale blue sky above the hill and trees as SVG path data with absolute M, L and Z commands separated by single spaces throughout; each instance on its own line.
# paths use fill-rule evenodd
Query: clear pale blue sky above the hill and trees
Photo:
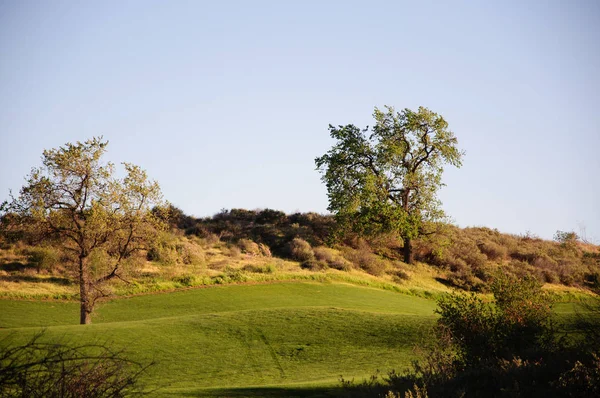
M 0 201 L 102 135 L 186 213 L 327 212 L 328 125 L 425 106 L 461 227 L 600 243 L 600 2 L 0 0 Z

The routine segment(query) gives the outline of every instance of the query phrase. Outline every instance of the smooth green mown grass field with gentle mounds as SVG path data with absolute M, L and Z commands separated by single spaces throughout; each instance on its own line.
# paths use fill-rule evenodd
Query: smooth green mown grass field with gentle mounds
M 0 300 L 0 337 L 106 342 L 156 361 L 157 396 L 335 396 L 338 381 L 400 370 L 427 338 L 435 302 L 339 283 L 191 289 L 78 305 Z

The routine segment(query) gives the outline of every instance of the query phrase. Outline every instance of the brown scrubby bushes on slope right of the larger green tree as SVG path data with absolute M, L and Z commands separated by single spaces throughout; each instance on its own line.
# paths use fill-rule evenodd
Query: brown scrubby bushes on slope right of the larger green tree
M 599 286 L 600 248 L 590 244 L 448 226 L 417 246 L 420 261 L 446 270 L 446 282 L 465 290 L 488 290 L 497 269 L 519 277 L 531 275 L 542 283 Z

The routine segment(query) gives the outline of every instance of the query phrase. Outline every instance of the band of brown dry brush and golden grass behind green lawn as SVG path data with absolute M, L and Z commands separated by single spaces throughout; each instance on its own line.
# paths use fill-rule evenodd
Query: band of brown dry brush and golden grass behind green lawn
M 114 283 L 114 294 L 317 275 L 411 291 L 485 292 L 498 272 L 532 275 L 555 290 L 600 286 L 600 247 L 573 239 L 555 242 L 447 225 L 415 241 L 416 263 L 407 265 L 402 242 L 393 236 L 334 239 L 330 216 L 270 209 L 233 209 L 203 219 L 178 209 L 172 213 L 171 230 L 129 260 L 128 283 Z M 0 241 L 0 294 L 74 298 L 77 288 L 63 264 L 55 248 L 5 237 Z

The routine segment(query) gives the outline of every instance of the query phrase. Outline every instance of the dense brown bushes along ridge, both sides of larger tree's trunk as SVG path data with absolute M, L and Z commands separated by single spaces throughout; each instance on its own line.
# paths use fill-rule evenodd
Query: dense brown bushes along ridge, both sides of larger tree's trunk
M 273 254 L 298 260 L 305 268 L 320 270 L 358 268 L 382 275 L 402 260 L 402 241 L 390 234 L 370 239 L 353 233 L 339 234 L 332 216 L 316 213 L 285 213 L 272 209 L 222 210 L 213 217 L 193 219 L 173 211 L 171 225 L 187 235 L 219 237 L 226 242 L 251 241 Z M 583 288 L 600 286 L 600 248 L 577 241 L 577 235 L 557 232 L 555 241 L 530 235 L 516 236 L 476 227 L 442 225 L 439 233 L 414 241 L 414 258 L 442 271 L 440 281 L 464 290 L 489 291 L 491 276 L 498 270 L 517 277 L 533 276 L 542 283 Z M 305 242 L 310 250 L 298 248 Z M 294 246 L 295 249 L 291 249 Z M 322 246 L 340 249 L 343 259 L 315 258 Z M 242 250 L 246 250 L 242 247 Z M 252 251 L 255 251 L 253 249 Z M 299 251 L 303 251 L 299 258 Z M 310 253 L 308 253 L 310 251 Z M 323 251 L 321 256 L 323 257 Z M 310 258 L 308 258 L 308 257 Z M 306 257 L 306 258 L 305 258 Z

